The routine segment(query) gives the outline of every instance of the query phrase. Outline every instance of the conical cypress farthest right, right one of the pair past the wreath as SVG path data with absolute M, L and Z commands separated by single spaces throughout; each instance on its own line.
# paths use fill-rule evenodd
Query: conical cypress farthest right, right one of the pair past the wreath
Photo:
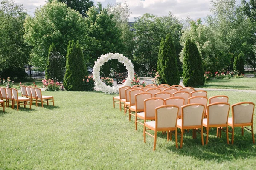
M 204 85 L 203 62 L 195 40 L 186 40 L 183 51 L 183 85 L 185 87 Z

